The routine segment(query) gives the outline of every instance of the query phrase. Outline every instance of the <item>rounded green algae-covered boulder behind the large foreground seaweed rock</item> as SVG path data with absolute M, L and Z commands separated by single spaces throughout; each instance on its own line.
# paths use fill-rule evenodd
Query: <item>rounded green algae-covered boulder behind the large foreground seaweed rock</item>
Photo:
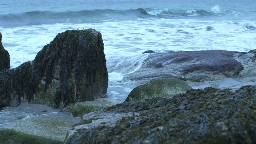
M 155 97 L 168 97 L 174 94 L 185 93 L 192 89 L 186 82 L 177 78 L 160 78 L 137 86 L 130 92 L 126 102 L 142 102 L 145 99 Z

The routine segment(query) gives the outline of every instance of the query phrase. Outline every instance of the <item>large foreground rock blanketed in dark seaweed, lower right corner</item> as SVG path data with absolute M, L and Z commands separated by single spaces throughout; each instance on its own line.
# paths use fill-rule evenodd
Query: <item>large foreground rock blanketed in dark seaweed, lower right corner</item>
M 255 144 L 256 86 L 188 90 L 85 114 L 66 144 Z

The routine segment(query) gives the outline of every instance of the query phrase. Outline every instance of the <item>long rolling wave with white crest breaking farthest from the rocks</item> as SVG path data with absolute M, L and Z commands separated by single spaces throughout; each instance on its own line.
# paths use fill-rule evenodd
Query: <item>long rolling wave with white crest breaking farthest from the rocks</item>
M 82 10 L 68 12 L 32 11 L 0 14 L 0 27 L 30 26 L 57 23 L 98 23 L 106 21 L 134 20 L 136 18 L 180 18 L 218 16 L 223 12 L 218 6 L 212 10 L 170 10 L 137 8 L 129 10 Z

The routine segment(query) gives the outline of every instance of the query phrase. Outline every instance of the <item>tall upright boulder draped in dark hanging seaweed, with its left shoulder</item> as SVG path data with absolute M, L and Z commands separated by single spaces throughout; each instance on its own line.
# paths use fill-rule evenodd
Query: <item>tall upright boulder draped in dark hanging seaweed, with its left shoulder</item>
M 63 108 L 102 98 L 108 88 L 103 50 L 94 29 L 58 34 L 33 61 L 0 73 L 0 108 L 20 102 Z

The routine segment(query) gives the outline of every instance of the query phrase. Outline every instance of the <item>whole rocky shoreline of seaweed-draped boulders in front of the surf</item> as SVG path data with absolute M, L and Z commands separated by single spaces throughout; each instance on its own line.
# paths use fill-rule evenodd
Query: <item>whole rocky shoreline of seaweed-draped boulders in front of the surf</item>
M 256 86 L 243 86 L 255 85 L 255 50 L 144 52 L 150 54 L 140 69 L 124 76 L 141 85 L 124 103 L 104 99 L 108 72 L 103 50 L 96 30 L 68 30 L 44 46 L 35 60 L 3 68 L 0 108 L 45 104 L 82 119 L 71 126 L 54 118 L 28 118 L 1 129 L 0 139 L 6 144 L 256 143 Z M 239 89 L 219 89 L 217 81 L 227 79 L 230 88 Z M 213 88 L 192 89 L 206 86 Z M 33 126 L 38 134 L 31 132 Z

